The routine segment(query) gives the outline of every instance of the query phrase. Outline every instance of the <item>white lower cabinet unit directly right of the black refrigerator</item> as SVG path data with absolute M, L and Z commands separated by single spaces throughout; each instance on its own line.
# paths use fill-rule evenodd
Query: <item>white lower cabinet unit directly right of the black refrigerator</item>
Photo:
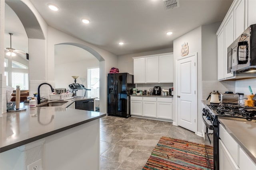
M 130 102 L 131 115 L 142 116 L 142 97 L 131 96 Z

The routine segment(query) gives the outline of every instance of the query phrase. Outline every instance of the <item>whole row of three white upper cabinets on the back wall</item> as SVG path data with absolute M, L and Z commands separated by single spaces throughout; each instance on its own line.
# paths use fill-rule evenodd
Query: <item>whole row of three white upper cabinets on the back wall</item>
M 172 83 L 173 54 L 134 57 L 134 83 Z

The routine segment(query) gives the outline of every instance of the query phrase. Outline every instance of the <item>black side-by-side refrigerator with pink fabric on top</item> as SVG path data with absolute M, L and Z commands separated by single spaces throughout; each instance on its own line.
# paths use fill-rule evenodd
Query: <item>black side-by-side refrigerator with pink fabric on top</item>
M 130 117 L 130 94 L 133 75 L 129 73 L 108 74 L 108 115 Z

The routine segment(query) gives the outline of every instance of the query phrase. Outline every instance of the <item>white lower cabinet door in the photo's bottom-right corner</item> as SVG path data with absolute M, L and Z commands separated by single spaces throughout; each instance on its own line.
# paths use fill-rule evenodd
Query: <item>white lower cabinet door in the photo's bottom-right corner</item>
M 256 170 L 256 164 L 241 148 L 239 149 L 239 162 L 240 170 Z

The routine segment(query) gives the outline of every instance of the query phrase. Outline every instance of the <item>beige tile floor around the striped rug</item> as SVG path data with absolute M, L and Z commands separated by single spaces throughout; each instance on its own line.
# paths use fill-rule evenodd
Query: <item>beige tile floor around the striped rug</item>
M 100 169 L 142 170 L 162 136 L 210 145 L 170 122 L 105 116 L 100 118 Z

